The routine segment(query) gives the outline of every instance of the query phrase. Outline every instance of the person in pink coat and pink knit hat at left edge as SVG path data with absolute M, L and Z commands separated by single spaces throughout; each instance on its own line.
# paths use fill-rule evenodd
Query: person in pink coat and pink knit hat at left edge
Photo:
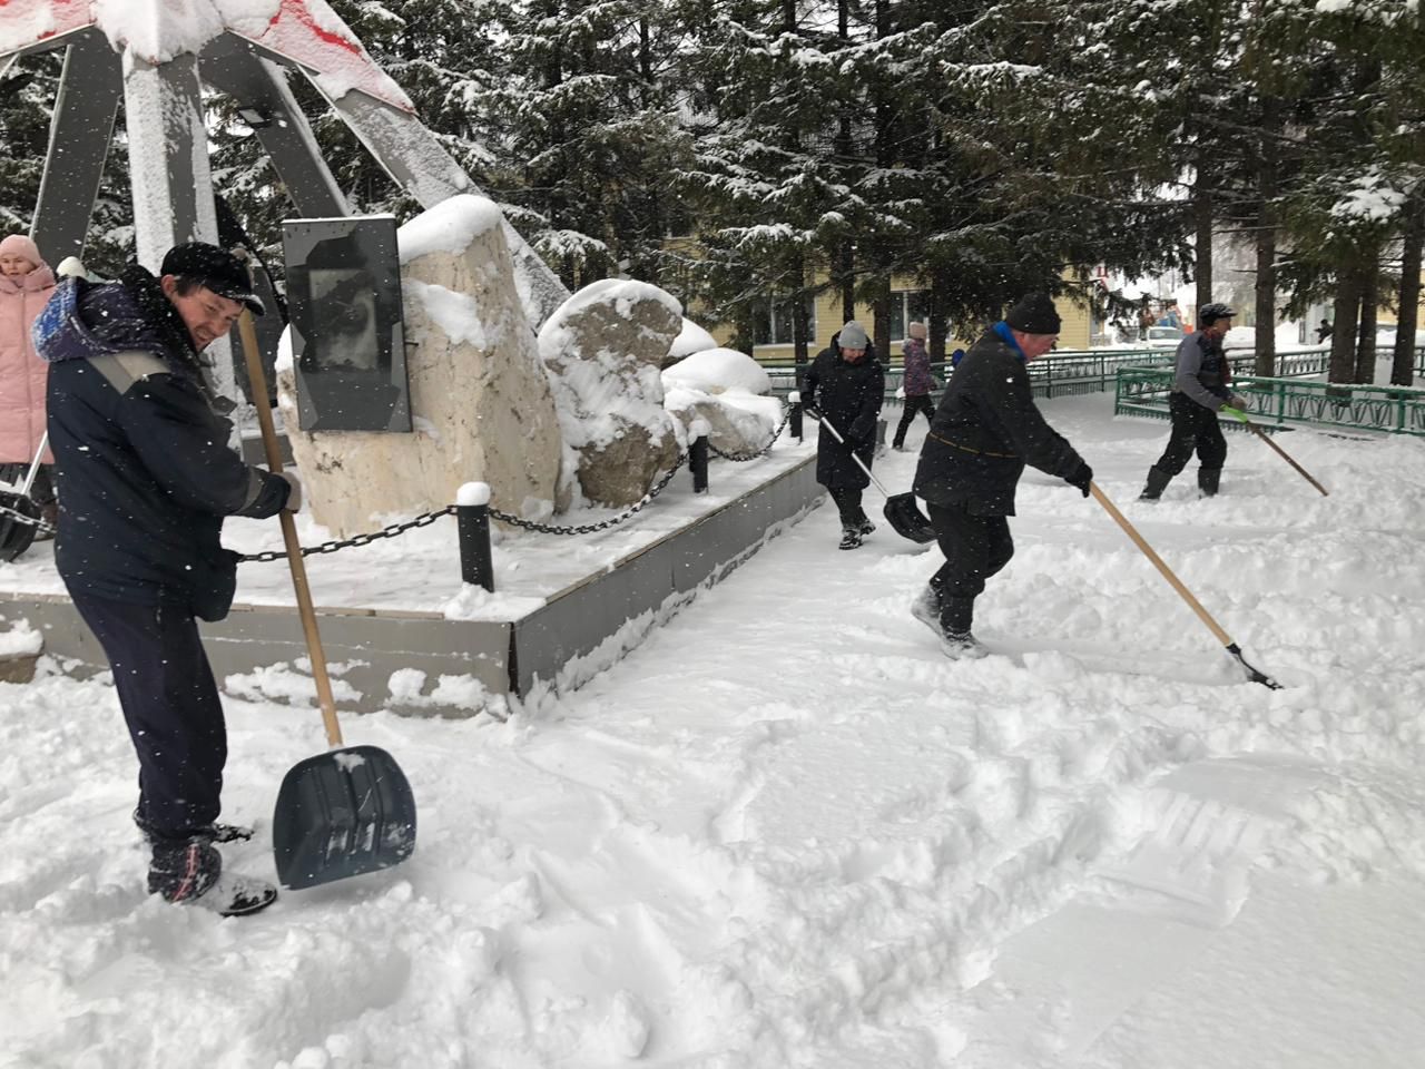
M 0 241 L 0 465 L 19 482 L 44 435 L 44 386 L 48 365 L 34 355 L 30 325 L 54 292 L 54 272 L 23 234 Z M 48 450 L 30 497 L 54 522 Z M 19 473 L 16 477 L 14 473 Z

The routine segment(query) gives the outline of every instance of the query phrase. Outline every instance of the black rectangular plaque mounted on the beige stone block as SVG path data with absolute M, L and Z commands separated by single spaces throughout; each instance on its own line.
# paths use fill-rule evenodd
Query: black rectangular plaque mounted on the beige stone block
M 285 220 L 298 425 L 410 430 L 392 215 Z

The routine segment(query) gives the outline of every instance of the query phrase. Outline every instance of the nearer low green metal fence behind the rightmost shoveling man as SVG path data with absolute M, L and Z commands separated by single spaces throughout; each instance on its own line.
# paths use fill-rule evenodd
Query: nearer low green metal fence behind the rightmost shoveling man
M 1425 351 L 1416 352 L 1419 362 Z M 1168 419 L 1173 371 L 1123 368 L 1113 395 L 1114 415 Z M 1287 425 L 1337 426 L 1425 436 L 1425 389 L 1355 386 L 1305 379 L 1235 375 L 1233 389 L 1248 402 L 1254 423 L 1265 430 Z M 1220 418 L 1224 428 L 1245 429 Z

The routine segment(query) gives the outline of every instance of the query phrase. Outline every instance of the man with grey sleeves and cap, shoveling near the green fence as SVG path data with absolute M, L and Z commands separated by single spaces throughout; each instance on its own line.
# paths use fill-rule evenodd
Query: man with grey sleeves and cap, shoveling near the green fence
M 1139 500 L 1156 502 L 1178 472 L 1197 452 L 1197 486 L 1204 496 L 1217 493 L 1227 460 L 1227 439 L 1217 422 L 1224 408 L 1244 408 L 1245 401 L 1231 392 L 1231 365 L 1223 352 L 1223 338 L 1231 329 L 1235 312 L 1224 304 L 1203 305 L 1197 312 L 1198 329 L 1177 346 L 1177 368 L 1168 415 L 1173 433 L 1159 462 L 1149 469 L 1147 485 Z

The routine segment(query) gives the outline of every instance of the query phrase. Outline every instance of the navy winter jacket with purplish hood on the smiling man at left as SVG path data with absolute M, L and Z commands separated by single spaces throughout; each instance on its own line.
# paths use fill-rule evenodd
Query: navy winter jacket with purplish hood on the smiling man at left
M 291 487 L 228 448 L 177 309 L 131 265 L 121 282 L 63 282 L 33 338 L 50 362 L 66 586 L 221 620 L 237 584 L 222 517 L 272 516 Z

